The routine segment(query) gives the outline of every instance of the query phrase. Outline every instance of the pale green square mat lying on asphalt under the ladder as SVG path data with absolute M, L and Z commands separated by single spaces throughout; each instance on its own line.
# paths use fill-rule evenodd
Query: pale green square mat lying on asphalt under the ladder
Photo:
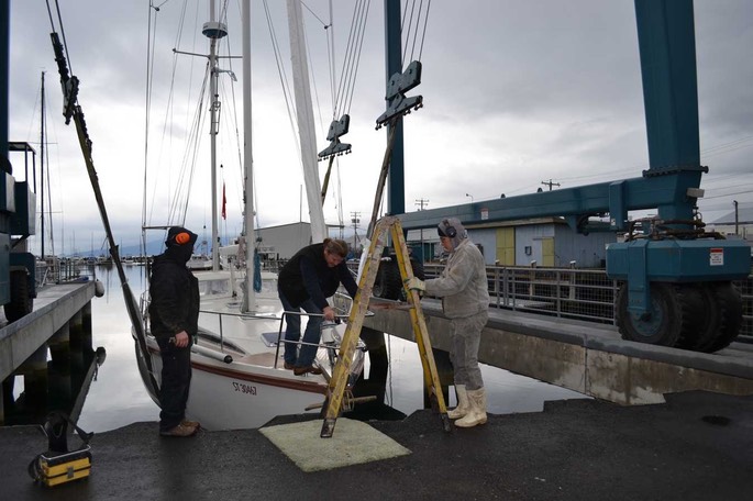
M 410 450 L 361 421 L 337 419 L 330 438 L 319 436 L 321 420 L 259 430 L 303 471 L 319 471 L 405 456 Z

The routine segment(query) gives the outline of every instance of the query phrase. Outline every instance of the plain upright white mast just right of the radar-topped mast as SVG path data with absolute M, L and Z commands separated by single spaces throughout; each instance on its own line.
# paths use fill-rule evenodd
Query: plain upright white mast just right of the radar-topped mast
M 243 41 L 241 43 L 243 53 L 243 222 L 246 240 L 246 287 L 241 311 L 248 313 L 256 304 L 256 292 L 254 291 L 254 156 L 251 143 L 251 0 L 243 2 L 241 21 L 243 24 Z

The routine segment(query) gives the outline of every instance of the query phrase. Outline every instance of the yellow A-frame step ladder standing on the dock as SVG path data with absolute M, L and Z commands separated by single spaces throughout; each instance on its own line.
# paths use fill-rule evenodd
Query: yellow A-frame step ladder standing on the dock
M 400 269 L 400 277 L 403 280 L 406 288 L 406 296 L 410 303 L 410 316 L 413 325 L 413 335 L 416 336 L 416 344 L 419 347 L 421 355 L 421 364 L 423 365 L 423 380 L 429 391 L 429 398 L 432 409 L 440 413 L 442 419 L 442 426 L 445 432 L 450 432 L 452 426 L 447 417 L 447 408 L 444 403 L 444 396 L 442 394 L 442 387 L 440 378 L 436 372 L 436 364 L 434 363 L 434 355 L 431 350 L 431 342 L 429 339 L 429 331 L 427 330 L 427 321 L 423 318 L 421 310 L 421 300 L 419 293 L 414 290 L 409 290 L 405 286 L 405 281 L 413 278 L 413 269 L 410 265 L 408 247 L 406 238 L 402 235 L 402 225 L 400 220 L 396 216 L 385 216 L 380 219 L 372 235 L 372 244 L 364 263 L 358 282 L 358 292 L 353 300 L 353 307 L 347 319 L 347 327 L 343 335 L 343 341 L 340 346 L 340 355 L 337 363 L 332 371 L 330 386 L 326 390 L 326 400 L 324 401 L 324 422 L 322 423 L 322 431 L 320 436 L 329 438 L 334 432 L 334 425 L 337 415 L 342 410 L 343 394 L 347 385 L 348 367 L 353 360 L 358 337 L 361 336 L 361 329 L 364 325 L 364 318 L 368 311 L 368 301 L 372 297 L 372 289 L 376 281 L 379 263 L 381 260 L 381 252 L 388 237 L 388 231 L 391 234 L 395 244 L 396 255 L 398 259 L 398 267 Z

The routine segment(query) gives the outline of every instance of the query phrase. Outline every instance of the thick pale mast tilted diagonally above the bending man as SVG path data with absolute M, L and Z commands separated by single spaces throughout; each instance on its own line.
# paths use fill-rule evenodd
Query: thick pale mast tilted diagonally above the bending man
M 321 201 L 321 182 L 317 167 L 317 134 L 309 84 L 309 65 L 306 55 L 306 38 L 300 0 L 288 0 L 288 27 L 290 31 L 290 58 L 292 60 L 292 81 L 296 94 L 296 115 L 300 136 L 303 182 L 309 202 L 312 242 L 323 242 L 328 236 L 324 211 Z

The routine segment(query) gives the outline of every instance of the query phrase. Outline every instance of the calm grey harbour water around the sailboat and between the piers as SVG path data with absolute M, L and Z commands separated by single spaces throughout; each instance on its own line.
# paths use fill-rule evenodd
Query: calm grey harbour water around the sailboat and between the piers
M 136 296 L 144 290 L 143 268 L 125 268 L 129 283 Z M 106 287 L 102 298 L 93 298 L 92 345 L 107 350 L 107 359 L 91 382 L 78 425 L 92 432 L 114 430 L 140 421 L 157 421 L 159 409 L 146 393 L 139 375 L 131 337 L 131 326 L 122 290 L 114 268 L 96 268 Z M 386 403 L 410 414 L 423 405 L 422 367 L 418 348 L 398 337 L 388 336 L 390 372 Z M 513 375 L 507 370 L 481 366 L 487 388 L 489 412 L 516 413 L 541 411 L 546 400 L 585 398 L 583 394 Z M 454 405 L 451 391 L 450 407 Z

